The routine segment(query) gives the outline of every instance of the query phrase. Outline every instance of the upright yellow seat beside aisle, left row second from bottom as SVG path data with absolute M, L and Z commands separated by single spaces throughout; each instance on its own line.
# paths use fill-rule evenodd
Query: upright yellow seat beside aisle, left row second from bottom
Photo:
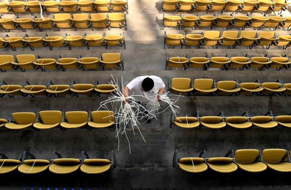
M 93 128 L 106 128 L 110 131 L 114 131 L 115 127 L 113 124 L 115 123 L 115 115 L 113 111 L 90 111 L 89 112 L 89 122 L 88 126 Z

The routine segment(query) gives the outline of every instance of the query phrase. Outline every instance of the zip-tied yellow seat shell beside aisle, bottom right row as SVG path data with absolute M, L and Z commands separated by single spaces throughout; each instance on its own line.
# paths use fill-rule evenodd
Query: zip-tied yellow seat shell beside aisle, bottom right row
M 180 158 L 178 165 L 179 168 L 190 173 L 200 173 L 206 171 L 208 168 L 204 163 L 204 158 Z

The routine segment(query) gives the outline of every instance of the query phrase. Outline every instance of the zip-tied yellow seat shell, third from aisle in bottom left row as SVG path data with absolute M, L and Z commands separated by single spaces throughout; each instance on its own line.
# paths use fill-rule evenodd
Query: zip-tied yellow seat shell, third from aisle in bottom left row
M 18 171 L 24 174 L 37 174 L 48 169 L 50 164 L 51 162 L 48 160 L 24 160 L 23 164 L 18 167 Z

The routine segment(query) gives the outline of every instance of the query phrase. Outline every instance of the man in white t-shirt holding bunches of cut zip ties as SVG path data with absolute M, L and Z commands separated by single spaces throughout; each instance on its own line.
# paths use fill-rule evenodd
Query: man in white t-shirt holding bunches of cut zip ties
M 144 97 L 141 96 L 134 97 L 138 103 L 148 104 L 152 102 L 151 100 L 156 101 L 158 99 L 158 101 L 160 101 L 160 94 L 162 94 L 165 91 L 165 84 L 162 81 L 162 79 L 158 76 L 154 75 L 138 76 L 124 87 L 123 95 L 125 97 L 125 101 L 128 101 L 126 97 L 129 96 L 130 90 L 133 90 L 134 95 L 144 96 Z M 155 111 L 150 112 L 150 114 L 155 114 Z M 150 123 L 151 120 L 152 117 L 148 116 L 147 122 Z

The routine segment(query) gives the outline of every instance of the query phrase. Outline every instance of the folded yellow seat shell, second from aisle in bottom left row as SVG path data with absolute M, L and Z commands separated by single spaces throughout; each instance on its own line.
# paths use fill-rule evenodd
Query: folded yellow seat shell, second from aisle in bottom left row
M 79 169 L 81 161 L 76 158 L 57 158 L 49 166 L 49 171 L 55 174 L 69 174 Z

